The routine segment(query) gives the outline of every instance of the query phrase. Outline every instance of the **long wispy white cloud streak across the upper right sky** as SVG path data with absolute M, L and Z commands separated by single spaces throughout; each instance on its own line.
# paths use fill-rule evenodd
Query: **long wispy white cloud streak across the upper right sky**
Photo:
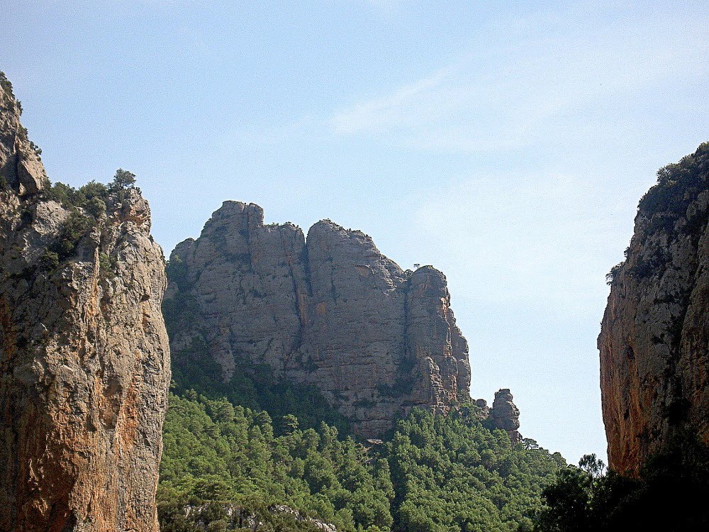
M 645 87 L 706 79 L 705 22 L 644 18 L 601 30 L 563 20 L 497 24 L 462 59 L 336 111 L 328 126 L 427 150 L 530 145 L 569 133 L 566 116 L 586 114 L 601 125 L 616 118 L 608 106 Z

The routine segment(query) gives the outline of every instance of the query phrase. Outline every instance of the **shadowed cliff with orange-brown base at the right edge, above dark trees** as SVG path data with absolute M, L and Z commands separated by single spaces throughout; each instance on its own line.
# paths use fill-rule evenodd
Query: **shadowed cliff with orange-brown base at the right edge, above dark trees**
M 678 431 L 709 442 L 709 144 L 640 201 L 598 348 L 610 467 L 636 474 Z

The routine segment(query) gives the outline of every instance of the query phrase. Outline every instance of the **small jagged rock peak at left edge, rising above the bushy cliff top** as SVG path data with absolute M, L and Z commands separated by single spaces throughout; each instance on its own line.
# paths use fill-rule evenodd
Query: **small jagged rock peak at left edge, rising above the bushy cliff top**
M 20 196 L 36 194 L 48 185 L 38 148 L 20 122 L 22 108 L 12 84 L 0 72 L 0 179 Z

